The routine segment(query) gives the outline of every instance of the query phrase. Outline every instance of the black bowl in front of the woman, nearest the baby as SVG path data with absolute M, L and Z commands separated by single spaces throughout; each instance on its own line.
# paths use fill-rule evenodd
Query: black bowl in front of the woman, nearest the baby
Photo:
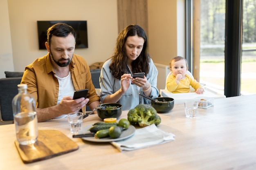
M 159 97 L 155 98 L 159 102 L 151 101 L 151 106 L 155 108 L 157 113 L 165 113 L 168 111 L 171 111 L 174 107 L 174 99 L 169 97 Z M 163 102 L 163 100 L 166 100 L 166 102 Z

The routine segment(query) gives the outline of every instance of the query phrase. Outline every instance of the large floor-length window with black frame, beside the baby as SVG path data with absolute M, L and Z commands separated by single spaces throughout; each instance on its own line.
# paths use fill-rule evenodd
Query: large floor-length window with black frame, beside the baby
M 254 86 L 256 84 L 256 1 L 187 0 L 187 2 L 187 7 L 189 4 L 193 5 L 193 8 L 187 8 L 193 9 L 191 15 L 187 10 L 187 18 L 193 16 L 189 21 L 191 26 L 188 27 L 191 31 L 187 31 L 192 34 L 187 35 L 191 37 L 188 41 L 193 43 L 191 46 L 187 45 L 186 50 L 191 49 L 191 52 L 186 54 L 191 55 L 186 57 L 193 65 L 191 71 L 196 79 L 207 88 L 227 97 L 232 94 L 256 94 Z M 236 8 L 232 3 L 236 4 Z M 227 4 L 229 5 L 226 7 Z M 239 8 L 242 7 L 243 10 L 240 10 Z M 233 15 L 226 13 L 227 8 L 229 11 L 234 10 Z M 239 13 L 239 11 L 243 11 L 240 16 L 234 15 L 234 12 Z M 228 21 L 226 17 L 229 17 Z M 243 22 L 238 25 L 239 19 L 242 21 L 242 18 Z M 230 29 L 233 26 L 234 30 Z M 226 28 L 229 30 L 225 30 Z M 243 33 L 243 36 L 240 36 L 242 39 L 239 37 L 239 31 Z M 200 46 L 196 45 L 197 42 Z M 238 71 L 232 74 L 232 69 Z M 236 83 L 238 85 L 235 85 Z M 230 89 L 233 91 L 229 92 Z M 234 89 L 238 89 L 237 93 Z

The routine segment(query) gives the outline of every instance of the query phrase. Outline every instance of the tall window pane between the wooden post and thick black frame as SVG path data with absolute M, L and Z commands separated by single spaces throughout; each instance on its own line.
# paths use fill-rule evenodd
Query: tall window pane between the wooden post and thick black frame
M 224 94 L 225 0 L 201 0 L 200 83 Z

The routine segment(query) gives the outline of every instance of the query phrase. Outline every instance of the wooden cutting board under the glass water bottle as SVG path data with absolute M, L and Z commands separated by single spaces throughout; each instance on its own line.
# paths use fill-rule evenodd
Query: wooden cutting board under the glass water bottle
M 34 145 L 20 145 L 17 140 L 15 145 L 24 163 L 49 159 L 79 148 L 72 139 L 57 130 L 38 130 Z

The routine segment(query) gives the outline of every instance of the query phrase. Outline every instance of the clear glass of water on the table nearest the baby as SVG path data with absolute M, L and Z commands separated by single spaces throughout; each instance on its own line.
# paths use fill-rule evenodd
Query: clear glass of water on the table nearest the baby
M 184 106 L 186 118 L 195 118 L 198 112 L 198 101 L 186 100 Z

